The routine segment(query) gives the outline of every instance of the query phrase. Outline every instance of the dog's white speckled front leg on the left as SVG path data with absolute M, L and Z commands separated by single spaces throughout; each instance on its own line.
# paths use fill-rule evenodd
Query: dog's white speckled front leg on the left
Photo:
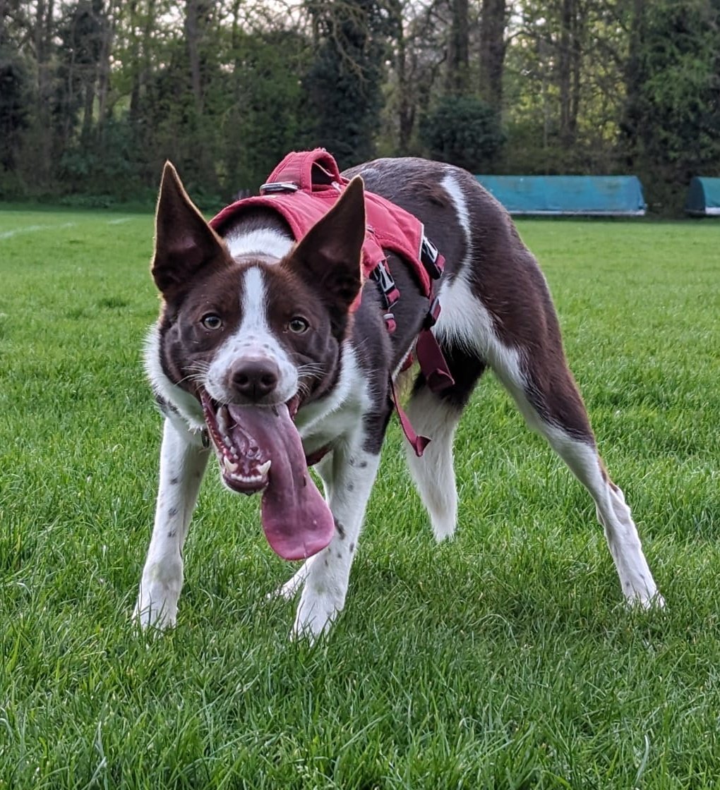
M 208 456 L 199 434 L 165 419 L 155 525 L 134 611 L 144 628 L 175 625 L 183 586 L 183 543 Z

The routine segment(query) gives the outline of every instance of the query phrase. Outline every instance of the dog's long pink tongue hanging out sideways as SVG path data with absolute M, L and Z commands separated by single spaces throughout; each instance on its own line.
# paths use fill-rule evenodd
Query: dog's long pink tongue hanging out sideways
M 333 514 L 307 471 L 305 452 L 288 407 L 228 406 L 232 419 L 272 462 L 262 494 L 262 529 L 283 559 L 305 559 L 332 540 Z

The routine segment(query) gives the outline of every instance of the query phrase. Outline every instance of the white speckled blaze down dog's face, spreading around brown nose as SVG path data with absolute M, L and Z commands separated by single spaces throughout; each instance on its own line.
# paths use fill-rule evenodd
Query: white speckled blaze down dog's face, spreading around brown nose
M 297 368 L 279 338 L 270 328 L 265 275 L 259 266 L 243 273 L 240 284 L 240 324 L 217 349 L 207 374 L 206 389 L 214 400 L 232 401 L 228 371 L 238 363 L 269 360 L 277 365 L 279 378 L 275 402 L 285 403 L 297 392 Z

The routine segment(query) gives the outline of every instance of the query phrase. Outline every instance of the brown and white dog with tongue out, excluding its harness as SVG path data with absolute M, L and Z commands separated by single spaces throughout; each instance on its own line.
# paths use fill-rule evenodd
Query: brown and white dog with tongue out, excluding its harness
M 295 243 L 262 210 L 221 238 L 165 167 L 152 265 L 162 307 L 146 367 L 166 419 L 135 616 L 143 626 L 175 623 L 183 542 L 213 454 L 232 491 L 263 492 L 273 549 L 305 558 L 279 590 L 300 592 L 292 634 L 316 638 L 343 608 L 393 408 L 389 380 L 428 310 L 412 273 L 390 256 L 401 299 L 397 330 L 386 331 L 376 284 L 360 279 L 363 185 L 417 216 L 447 259 L 433 332 L 454 385 L 432 393 L 419 373 L 407 407 L 432 438 L 423 457 L 409 450 L 407 460 L 437 540 L 456 523 L 455 427 L 491 367 L 594 498 L 628 602 L 662 605 L 623 492 L 597 453 L 545 278 L 507 213 L 472 175 L 447 164 L 376 160 L 343 175 L 362 179 Z M 306 465 L 321 449 L 329 450 L 317 466 L 327 504 Z

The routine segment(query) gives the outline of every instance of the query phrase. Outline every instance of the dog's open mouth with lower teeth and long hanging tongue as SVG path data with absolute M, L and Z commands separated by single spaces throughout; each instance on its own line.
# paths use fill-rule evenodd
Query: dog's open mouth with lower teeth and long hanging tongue
M 262 529 L 283 559 L 305 559 L 330 543 L 334 519 L 307 471 L 303 444 L 288 404 L 217 404 L 201 392 L 205 423 L 224 483 L 262 494 Z

